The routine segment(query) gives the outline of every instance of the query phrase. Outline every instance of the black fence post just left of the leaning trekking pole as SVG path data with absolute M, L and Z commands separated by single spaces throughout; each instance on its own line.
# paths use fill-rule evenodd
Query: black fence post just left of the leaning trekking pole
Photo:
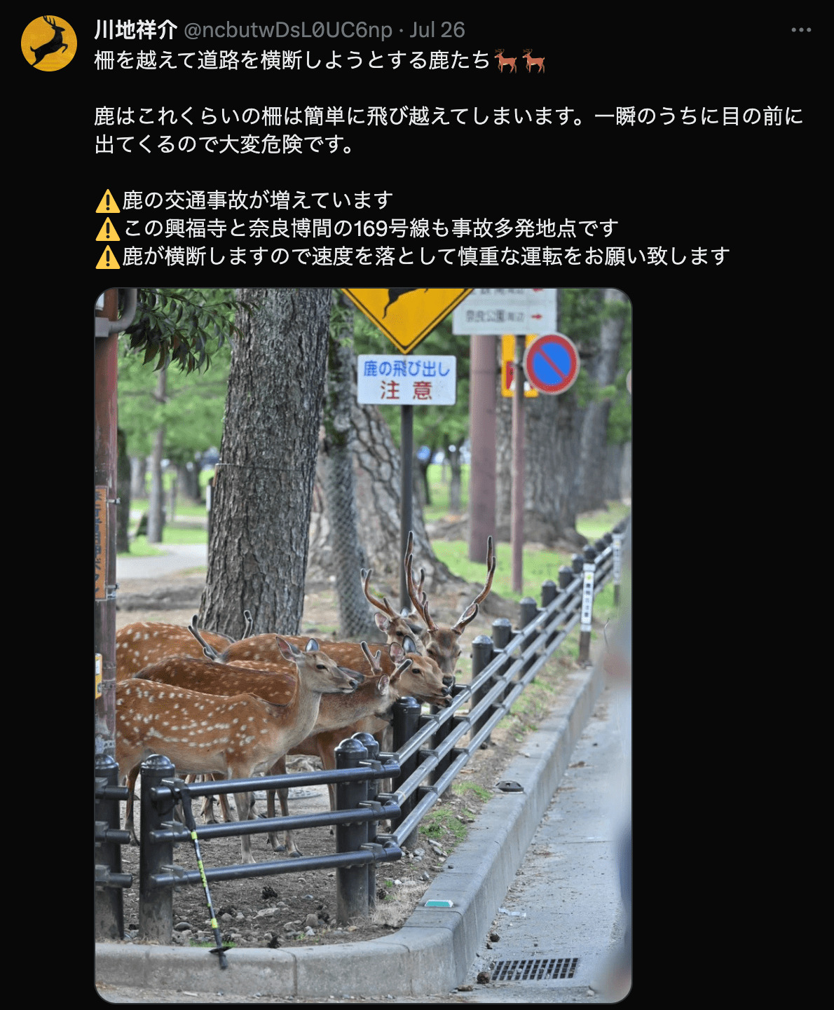
M 174 766 L 163 754 L 152 754 L 143 762 L 140 780 L 140 937 L 158 943 L 170 943 L 174 932 L 174 889 L 152 887 L 151 875 L 174 865 L 174 842 L 152 842 L 151 832 L 160 831 L 166 822 L 173 821 L 174 797 L 155 803 L 151 790 L 162 785 L 163 779 L 173 779 L 174 775 Z

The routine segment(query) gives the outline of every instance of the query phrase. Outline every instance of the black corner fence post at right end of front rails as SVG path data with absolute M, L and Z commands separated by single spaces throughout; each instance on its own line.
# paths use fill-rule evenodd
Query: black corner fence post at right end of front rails
M 368 750 L 361 740 L 351 736 L 336 748 L 336 767 L 359 768 L 368 760 Z M 368 797 L 367 782 L 339 782 L 336 785 L 336 809 L 353 810 Z M 367 821 L 336 825 L 337 852 L 359 852 L 368 840 Z M 359 866 L 339 867 L 336 871 L 336 918 L 340 925 L 350 925 L 351 919 L 368 916 L 368 871 Z

